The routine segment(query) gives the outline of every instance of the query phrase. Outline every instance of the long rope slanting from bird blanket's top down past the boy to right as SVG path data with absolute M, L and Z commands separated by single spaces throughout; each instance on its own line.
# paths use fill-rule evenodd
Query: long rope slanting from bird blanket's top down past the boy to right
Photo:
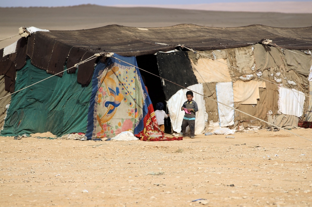
M 111 57 L 112 57 L 112 58 L 115 58 L 114 56 L 111 56 Z M 129 62 L 125 62 L 125 61 L 123 61 L 123 60 L 120 60 L 119 58 L 115 58 L 115 59 L 117 59 L 119 62 L 127 63 L 128 65 L 131 65 L 131 66 L 133 66 L 133 67 L 138 68 L 139 70 L 142 70 L 142 71 L 148 72 L 148 73 L 150 73 L 150 74 L 152 74 L 152 75 L 154 75 L 154 76 L 157 76 L 157 75 L 155 75 L 155 74 L 153 74 L 153 73 L 151 73 L 151 72 L 149 72 L 149 71 L 143 70 L 143 69 L 141 69 L 141 68 L 139 68 L 139 67 L 137 67 L 137 66 L 135 66 L 135 65 L 132 65 L 132 64 L 130 64 Z M 170 83 L 173 83 L 173 84 L 175 84 L 175 85 L 178 85 L 178 86 L 180 86 L 181 88 L 188 89 L 188 88 L 186 88 L 186 87 L 184 87 L 184 86 L 182 86 L 182 85 L 179 85 L 179 84 L 177 84 L 177 83 L 174 83 L 174 82 L 172 82 L 172 81 L 169 81 L 169 80 L 167 80 L 167 79 L 165 79 L 165 78 L 162 78 L 162 77 L 160 77 L 160 76 L 157 76 L 157 77 L 158 77 L 158 78 L 161 78 L 161 79 L 163 79 L 163 80 L 165 80 L 165 81 L 168 81 L 168 82 L 170 82 Z M 188 89 L 188 90 L 190 90 L 190 89 Z M 193 90 L 190 90 L 190 91 L 193 91 Z M 301 137 L 301 138 L 303 138 L 303 139 L 309 140 L 309 139 L 307 139 L 307 138 L 305 138 L 305 137 L 303 137 L 303 136 L 300 136 L 300 135 L 295 134 L 295 133 L 293 133 L 293 132 L 291 132 L 291 131 L 289 131 L 289 130 L 283 129 L 283 128 L 278 127 L 278 126 L 276 126 L 276 125 L 274 125 L 274 124 L 271 124 L 271 123 L 269 123 L 269 122 L 266 122 L 266 121 L 264 121 L 264 120 L 262 120 L 262 119 L 260 119 L 260 118 L 258 118 L 258 117 L 252 116 L 251 114 L 248 114 L 248 113 L 246 113 L 246 112 L 243 112 L 243 111 L 241 111 L 241 110 L 239 110 L 239 109 L 237 109 L 237 108 L 234 108 L 234 107 L 232 107 L 232 106 L 229 106 L 229 105 L 227 105 L 227 104 L 224 104 L 224 103 L 222 103 L 222 102 L 220 102 L 220 101 L 217 101 L 217 100 L 215 100 L 215 99 L 211 99 L 211 98 L 209 98 L 209 97 L 207 97 L 207 96 L 205 96 L 205 95 L 203 95 L 203 94 L 197 93 L 196 91 L 193 91 L 193 92 L 196 93 L 196 94 L 198 94 L 198 95 L 201 95 L 201 96 L 203 96 L 203 97 L 205 97 L 205 98 L 207 98 L 207 99 L 213 100 L 213 101 L 215 101 L 215 102 L 217 102 L 217 103 L 219 103 L 219 104 L 222 104 L 222 105 L 224 105 L 224 106 L 227 106 L 227 107 L 229 107 L 229 108 L 231 108 L 231 109 L 234 109 L 234 110 L 236 110 L 236 111 L 238 111 L 238 112 L 241 112 L 241 113 L 243 113 L 243 114 L 246 114 L 246 115 L 248 115 L 248 116 L 250 116 L 250 117 L 253 117 L 253 118 L 255 118 L 255 119 L 258 119 L 259 121 L 262 121 L 262 122 L 265 122 L 265 123 L 267 123 L 267 124 L 269 124 L 269 125 L 272 125 L 272 126 L 278 128 L 278 129 L 284 130 L 284 131 L 289 132 L 289 133 L 291 133 L 291 134 L 293 134 L 293 135 L 295 135 L 295 136 L 299 136 L 299 137 Z M 309 141 L 312 141 L 312 140 L 309 140 Z

